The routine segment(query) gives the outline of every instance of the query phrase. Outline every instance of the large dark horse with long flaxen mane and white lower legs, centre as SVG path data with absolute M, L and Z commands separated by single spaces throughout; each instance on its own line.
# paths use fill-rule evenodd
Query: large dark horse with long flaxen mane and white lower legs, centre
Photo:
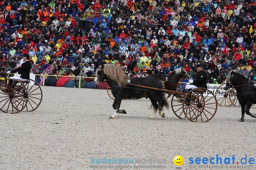
M 163 118 L 165 117 L 162 109 L 164 106 L 166 108 L 169 108 L 169 104 L 167 102 L 167 99 L 165 98 L 165 93 L 163 91 L 150 90 L 146 88 L 122 84 L 128 83 L 130 81 L 130 84 L 164 89 L 164 83 L 161 80 L 153 77 L 129 80 L 122 68 L 116 67 L 111 64 L 105 64 L 103 69 L 98 69 L 96 71 L 96 78 L 94 79 L 94 82 L 97 83 L 97 81 L 103 81 L 105 79 L 108 85 L 111 87 L 111 92 L 115 97 L 112 106 L 116 111 L 110 117 L 110 119 L 115 119 L 117 117 L 117 113 L 126 114 L 125 110 L 119 109 L 122 99 L 139 99 L 143 97 L 149 98 L 154 108 L 154 112 L 149 119 L 154 119 L 156 117 L 156 111 L 158 109 L 160 116 Z

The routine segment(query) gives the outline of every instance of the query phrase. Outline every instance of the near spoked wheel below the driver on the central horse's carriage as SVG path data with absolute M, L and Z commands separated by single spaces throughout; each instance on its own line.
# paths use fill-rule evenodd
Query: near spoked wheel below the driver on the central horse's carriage
M 192 94 L 192 95 L 191 95 Z M 203 94 L 207 94 L 203 96 Z M 190 100 L 187 102 L 186 100 Z M 189 91 L 183 100 L 183 113 L 193 122 L 207 122 L 217 111 L 217 99 L 213 92 L 204 88 Z

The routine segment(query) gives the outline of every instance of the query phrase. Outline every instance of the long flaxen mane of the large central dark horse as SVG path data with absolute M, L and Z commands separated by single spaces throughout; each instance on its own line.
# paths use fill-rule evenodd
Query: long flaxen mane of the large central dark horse
M 121 83 L 127 83 L 127 80 L 129 80 L 128 76 L 120 67 L 116 67 L 111 64 L 105 64 L 103 71 L 108 78 L 112 79 L 113 81 L 116 81 L 119 86 L 121 86 Z

